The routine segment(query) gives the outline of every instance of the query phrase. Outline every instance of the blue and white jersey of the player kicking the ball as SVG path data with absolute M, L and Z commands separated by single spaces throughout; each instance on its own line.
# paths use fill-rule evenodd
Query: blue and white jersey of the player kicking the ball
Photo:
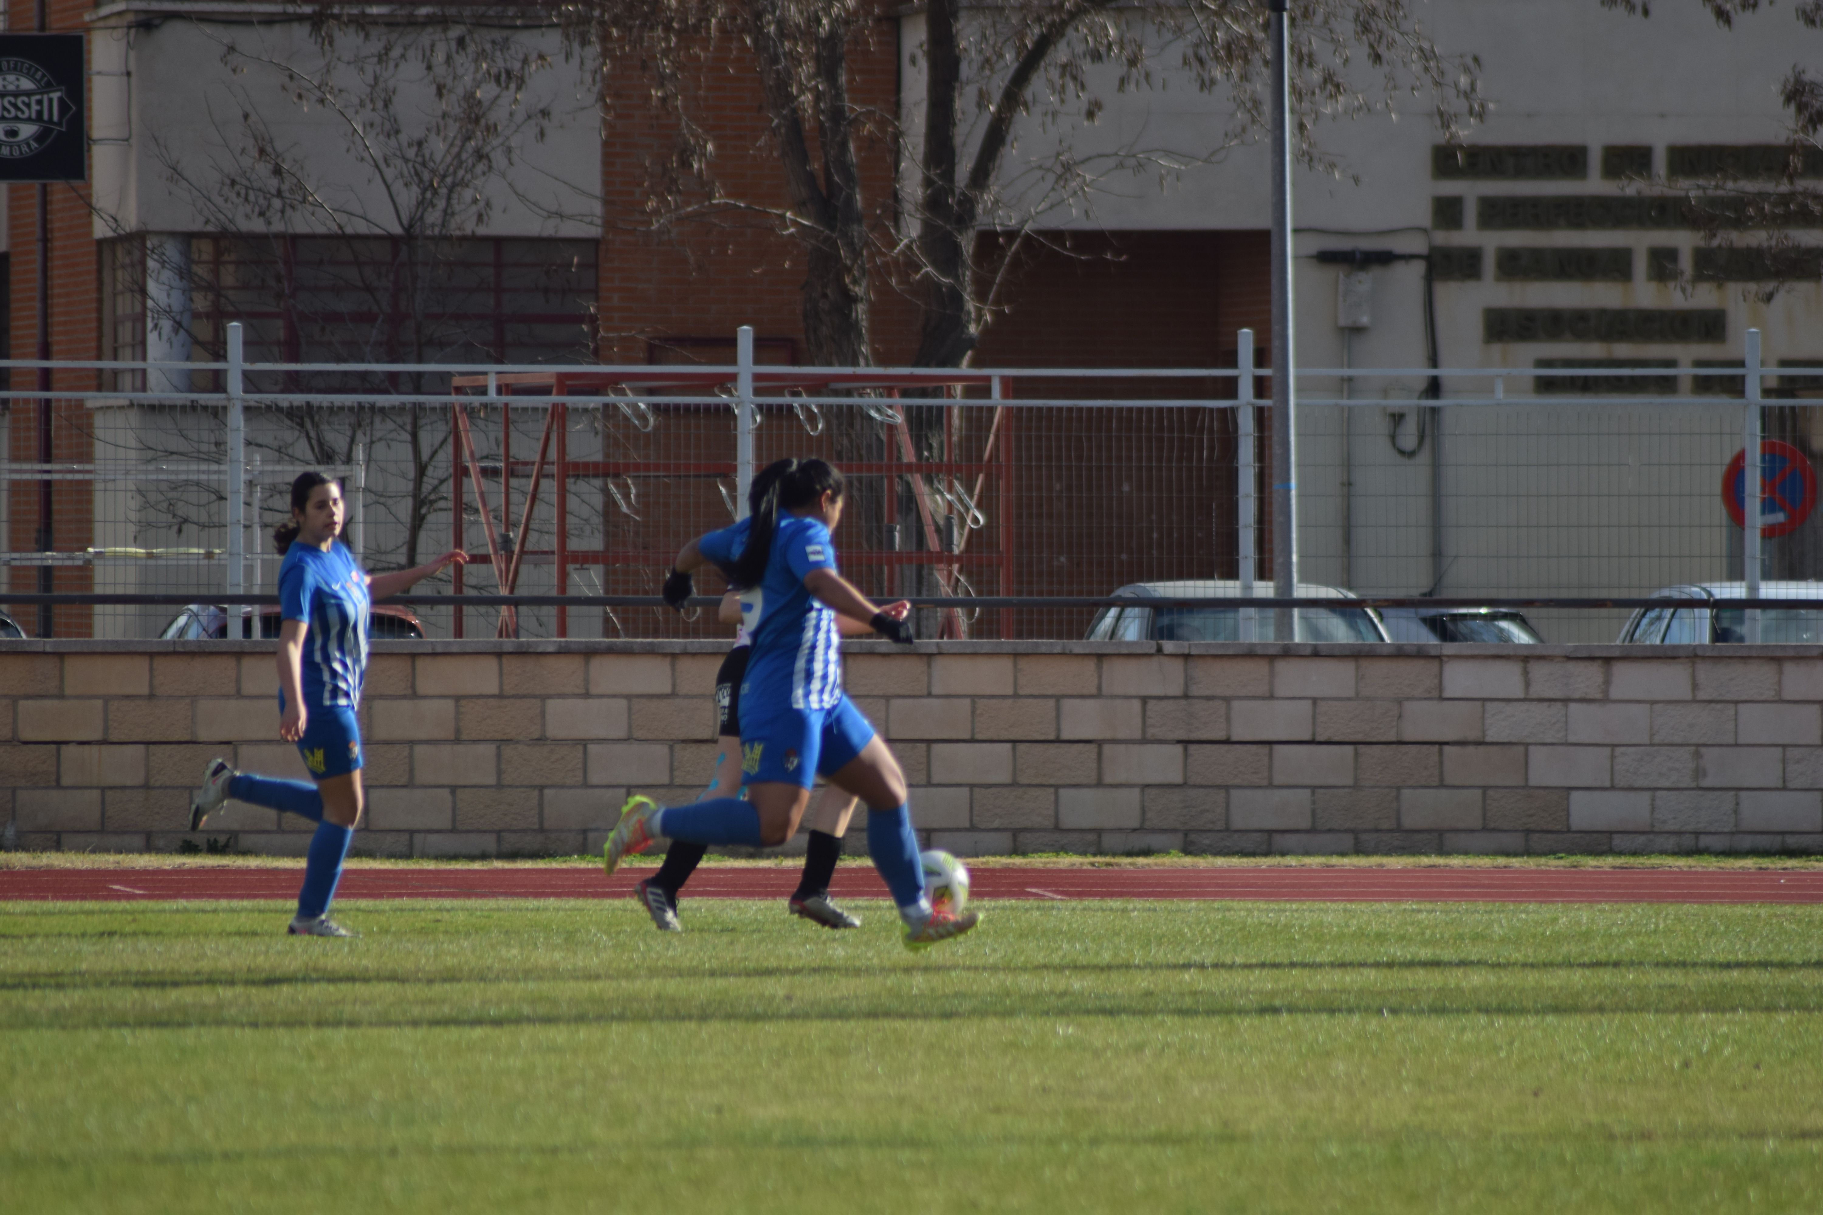
M 709 532 L 696 546 L 722 568 L 747 546 L 747 521 Z M 766 577 L 740 601 L 753 636 L 742 705 L 789 701 L 793 709 L 833 709 L 842 699 L 842 641 L 835 612 L 804 588 L 811 570 L 835 568 L 835 545 L 822 519 L 780 516 Z

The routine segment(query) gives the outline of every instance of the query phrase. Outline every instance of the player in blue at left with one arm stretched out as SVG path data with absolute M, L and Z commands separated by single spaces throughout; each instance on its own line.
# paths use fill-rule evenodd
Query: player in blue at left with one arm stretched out
M 430 577 L 467 554 L 452 550 L 428 565 L 368 574 L 337 537 L 343 530 L 341 485 L 321 472 L 292 481 L 292 521 L 273 532 L 279 567 L 279 738 L 297 743 L 315 778 L 277 780 L 237 772 L 211 760 L 190 801 L 190 829 L 233 798 L 317 823 L 297 894 L 294 936 L 352 936 L 330 920 L 330 900 L 361 820 L 361 683 L 366 678 L 368 605 Z

